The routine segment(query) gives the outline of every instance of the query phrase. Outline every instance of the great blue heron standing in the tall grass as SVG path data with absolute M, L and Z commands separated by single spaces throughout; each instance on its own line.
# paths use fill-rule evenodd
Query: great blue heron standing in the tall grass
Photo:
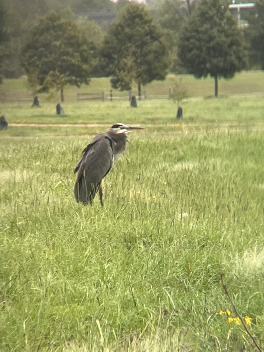
M 143 129 L 144 127 L 114 124 L 107 132 L 95 136 L 83 149 L 82 157 L 74 169 L 74 173 L 78 172 L 74 187 L 77 202 L 92 204 L 99 190 L 100 203 L 103 206 L 101 181 L 112 168 L 115 159 L 125 151 L 126 132 Z

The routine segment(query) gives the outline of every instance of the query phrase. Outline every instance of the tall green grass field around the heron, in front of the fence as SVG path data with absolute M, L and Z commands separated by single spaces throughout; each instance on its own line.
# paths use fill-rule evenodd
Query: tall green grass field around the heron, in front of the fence
M 257 351 L 221 274 L 263 349 L 262 99 L 2 104 L 52 126 L 0 131 L 0 351 Z M 84 207 L 73 168 L 113 122 L 148 128 Z

